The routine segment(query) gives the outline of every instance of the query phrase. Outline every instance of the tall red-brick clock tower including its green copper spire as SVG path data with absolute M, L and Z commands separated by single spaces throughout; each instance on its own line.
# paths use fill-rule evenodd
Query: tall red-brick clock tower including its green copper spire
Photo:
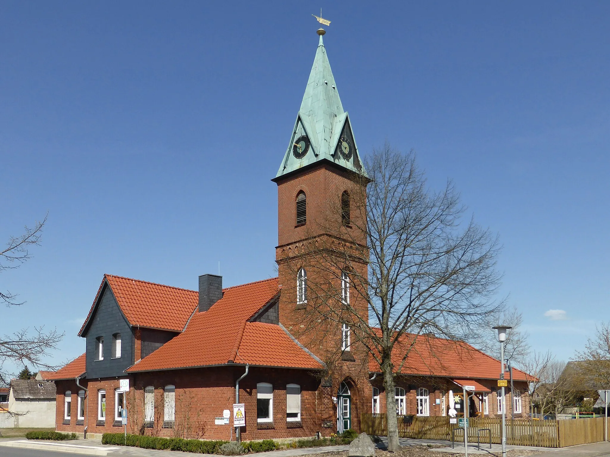
M 367 278 L 362 202 L 368 182 L 322 40 L 278 174 L 279 322 L 326 364 L 325 427 L 359 429 L 371 387 L 368 353 L 353 320 L 368 322 L 358 279 Z M 339 247 L 338 252 L 332 246 Z M 353 247 L 356 255 L 347 255 Z M 322 406 L 322 405 L 321 405 Z M 334 416 L 331 416 L 331 411 Z

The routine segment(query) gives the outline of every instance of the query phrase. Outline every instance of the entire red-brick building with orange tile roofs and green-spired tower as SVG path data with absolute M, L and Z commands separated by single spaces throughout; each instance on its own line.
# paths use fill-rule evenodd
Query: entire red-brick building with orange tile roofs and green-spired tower
M 350 210 L 350 201 L 365 196 L 366 172 L 321 35 L 273 181 L 278 277 L 223 288 L 220 276 L 203 275 L 199 290 L 188 291 L 104 275 L 79 333 L 85 353 L 51 377 L 57 430 L 119 432 L 126 409 L 129 433 L 229 439 L 231 424 L 216 422 L 232 411 L 236 396 L 245 404 L 247 440 L 359 431 L 362 413 L 384 413 L 379 369 L 351 338 L 350 322 L 322 322 L 310 313 L 325 296 L 331 310 L 348 304 L 368 321 L 354 283 L 367 277 L 366 239 L 358 229 L 366 216 L 358 205 Z M 353 247 L 349 269 L 320 257 L 328 243 Z M 397 377 L 400 414 L 446 414 L 451 399 L 459 403 L 459 380 L 476 384 L 486 414 L 497 414 L 493 383 L 500 363 L 460 342 L 431 344 L 435 363 L 418 360 L 426 352 L 415 351 Z M 514 376 L 526 392 L 525 374 L 514 370 Z M 520 401 L 525 414 L 525 395 Z M 482 405 L 473 405 L 473 413 L 483 413 Z

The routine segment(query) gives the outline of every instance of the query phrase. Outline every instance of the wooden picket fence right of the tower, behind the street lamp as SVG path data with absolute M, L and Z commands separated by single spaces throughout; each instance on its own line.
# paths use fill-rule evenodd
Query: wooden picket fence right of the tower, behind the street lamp
M 565 447 L 575 444 L 603 441 L 604 419 L 573 419 L 573 420 L 506 420 L 507 444 L 540 447 Z M 502 422 L 500 418 L 472 417 L 468 428 L 468 441 L 476 442 L 476 432 L 489 428 L 492 443 L 500 444 Z M 385 414 L 362 414 L 362 431 L 371 435 L 387 435 L 387 419 Z M 447 416 L 418 417 L 398 416 L 398 435 L 402 438 L 420 439 L 451 439 L 451 430 L 458 428 L 449 423 Z M 481 442 L 489 442 L 487 431 L 481 430 Z M 464 432 L 454 432 L 455 441 L 464 441 Z

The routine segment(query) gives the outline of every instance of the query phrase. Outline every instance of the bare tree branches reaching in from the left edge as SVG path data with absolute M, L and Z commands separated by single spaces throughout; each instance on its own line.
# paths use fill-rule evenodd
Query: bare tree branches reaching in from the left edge
M 25 227 L 21 236 L 11 236 L 4 250 L 0 251 L 0 272 L 18 268 L 32 256 L 29 249 L 40 243 L 45 219 L 36 222 L 33 228 Z M 0 291 L 0 302 L 7 306 L 22 305 L 16 300 L 17 295 L 10 291 Z M 45 331 L 43 327 L 34 327 L 34 331 L 23 328 L 12 335 L 0 338 L 0 383 L 7 384 L 9 373 L 4 369 L 5 363 L 30 364 L 49 370 L 56 367 L 43 362 L 52 349 L 57 349 L 57 343 L 63 338 L 63 333 L 57 330 Z

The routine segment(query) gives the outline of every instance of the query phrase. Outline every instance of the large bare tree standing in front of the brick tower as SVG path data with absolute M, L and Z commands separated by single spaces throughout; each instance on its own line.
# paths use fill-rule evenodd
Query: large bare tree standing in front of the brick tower
M 465 207 L 453 183 L 429 190 L 412 152 L 401 154 L 386 143 L 365 169 L 368 177 L 353 177 L 350 206 L 337 198 L 331 214 L 315 221 L 326 235 L 305 241 L 289 263 L 295 278 L 302 265 L 309 268 L 312 297 L 304 305 L 303 334 L 320 336 L 349 322 L 354 342 L 378 364 L 387 392 L 388 447 L 396 451 L 395 375 L 418 335 L 472 341 L 487 316 L 503 309 L 493 299 L 500 248 L 489 230 L 473 219 L 462 221 Z

